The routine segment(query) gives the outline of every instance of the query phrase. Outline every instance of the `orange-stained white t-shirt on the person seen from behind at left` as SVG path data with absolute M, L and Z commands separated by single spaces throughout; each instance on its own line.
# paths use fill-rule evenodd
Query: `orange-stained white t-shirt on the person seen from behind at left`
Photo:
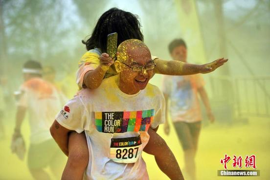
M 38 144 L 52 139 L 49 128 L 55 114 L 63 106 L 61 95 L 56 88 L 41 78 L 31 78 L 20 88 L 17 106 L 29 112 L 30 143 Z

